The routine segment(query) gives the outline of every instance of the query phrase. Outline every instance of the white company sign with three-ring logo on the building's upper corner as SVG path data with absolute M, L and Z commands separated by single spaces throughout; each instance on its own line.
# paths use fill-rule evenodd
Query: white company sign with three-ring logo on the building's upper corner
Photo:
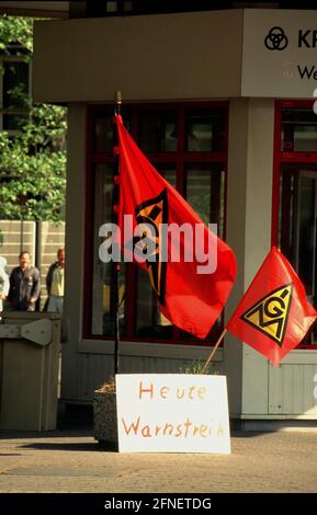
M 317 11 L 244 11 L 242 96 L 313 99 Z

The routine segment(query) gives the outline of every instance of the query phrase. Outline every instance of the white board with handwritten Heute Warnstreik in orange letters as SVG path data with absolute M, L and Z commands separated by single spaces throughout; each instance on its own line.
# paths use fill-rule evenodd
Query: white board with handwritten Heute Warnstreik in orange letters
M 121 453 L 230 454 L 225 376 L 115 377 Z

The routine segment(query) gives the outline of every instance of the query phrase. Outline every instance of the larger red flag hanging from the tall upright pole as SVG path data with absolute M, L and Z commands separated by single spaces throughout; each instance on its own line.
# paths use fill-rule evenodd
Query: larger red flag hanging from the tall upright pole
M 236 260 L 231 249 L 218 239 L 181 195 L 155 170 L 125 129 L 121 116 L 116 115 L 120 153 L 120 227 L 124 215 L 133 216 L 133 226 L 147 222 L 157 236 L 156 261 L 146 261 L 147 270 L 162 313 L 177 327 L 199 337 L 206 337 L 220 314 L 236 277 Z M 176 250 L 173 237 L 168 237 L 168 260 L 161 259 L 159 248 L 161 224 L 189 224 L 201 226 L 195 238 L 193 260 L 185 261 L 188 240 L 181 234 L 178 262 L 171 260 Z M 193 232 L 194 233 L 194 232 Z M 137 239 L 135 239 L 137 240 Z M 195 255 L 217 245 L 216 268 L 213 273 L 197 273 L 204 263 Z M 126 241 L 124 241 L 126 243 Z

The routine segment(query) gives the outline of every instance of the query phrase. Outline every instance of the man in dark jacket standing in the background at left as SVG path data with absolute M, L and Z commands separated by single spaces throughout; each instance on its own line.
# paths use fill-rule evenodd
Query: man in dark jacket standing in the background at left
M 7 300 L 15 311 L 34 311 L 41 294 L 39 272 L 30 265 L 30 253 L 21 252 L 20 266 L 12 270 Z

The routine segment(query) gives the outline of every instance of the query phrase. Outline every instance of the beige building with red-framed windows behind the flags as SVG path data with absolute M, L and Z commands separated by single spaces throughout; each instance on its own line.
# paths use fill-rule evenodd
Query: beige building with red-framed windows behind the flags
M 225 319 L 271 244 L 293 263 L 316 306 L 316 11 L 36 23 L 33 98 L 67 104 L 69 112 L 65 402 L 90 402 L 113 374 L 112 271 L 98 249 L 99 227 L 111 216 L 116 90 L 125 124 L 149 160 L 205 221 L 218 224 L 236 253 L 238 278 Z M 224 323 L 204 342 L 171 327 L 132 264 L 121 267 L 120 299 L 125 373 L 178 371 L 203 359 Z M 314 424 L 316 337 L 312 331 L 272 367 L 226 335 L 214 369 L 227 374 L 231 416 L 248 427 Z

